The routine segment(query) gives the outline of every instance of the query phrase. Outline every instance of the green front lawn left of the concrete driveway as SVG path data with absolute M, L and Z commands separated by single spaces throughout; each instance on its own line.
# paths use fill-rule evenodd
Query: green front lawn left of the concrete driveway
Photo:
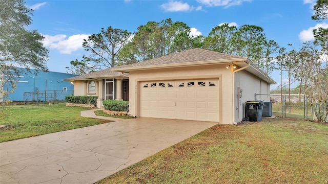
M 108 120 L 80 116 L 83 107 L 67 107 L 61 104 L 8 105 L 7 116 L 0 120 L 6 129 L 0 129 L 0 142 L 108 123 Z

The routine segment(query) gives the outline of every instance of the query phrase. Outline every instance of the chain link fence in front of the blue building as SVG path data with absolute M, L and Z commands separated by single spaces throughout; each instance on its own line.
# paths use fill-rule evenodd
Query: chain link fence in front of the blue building
M 24 104 L 27 103 L 57 103 L 65 101 L 66 96 L 73 96 L 74 90 L 44 90 L 24 93 Z

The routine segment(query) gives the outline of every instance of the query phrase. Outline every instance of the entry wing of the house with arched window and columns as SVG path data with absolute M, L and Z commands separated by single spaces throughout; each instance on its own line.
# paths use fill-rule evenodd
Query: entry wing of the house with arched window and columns
M 64 81 L 74 85 L 74 96 L 98 96 L 98 108 L 101 108 L 103 100 L 129 100 L 128 73 L 114 72 L 108 68 Z

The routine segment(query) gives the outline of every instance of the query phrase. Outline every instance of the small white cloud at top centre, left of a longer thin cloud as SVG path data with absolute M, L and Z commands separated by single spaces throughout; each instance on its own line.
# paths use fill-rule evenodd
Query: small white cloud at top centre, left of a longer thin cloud
M 182 3 L 181 1 L 169 1 L 168 3 L 160 5 L 162 9 L 166 12 L 179 12 L 179 11 L 200 11 L 202 9 L 201 6 L 193 7 L 190 6 L 188 3 Z

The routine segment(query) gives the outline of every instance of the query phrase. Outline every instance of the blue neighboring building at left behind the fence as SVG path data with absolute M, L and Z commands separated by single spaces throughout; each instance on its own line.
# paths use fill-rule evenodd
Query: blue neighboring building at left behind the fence
M 11 101 L 50 101 L 65 100 L 65 96 L 73 94 L 73 85 L 64 79 L 76 75 L 59 73 L 59 72 L 38 72 L 34 74 L 24 73 L 24 68 L 20 68 L 23 72 L 16 77 L 16 88 L 14 93 L 10 93 L 8 100 Z M 6 79 L 6 76 L 2 76 Z M 9 86 L 9 88 L 7 88 Z M 10 85 L 4 85 L 5 90 L 11 90 Z M 45 92 L 47 90 L 47 93 Z M 3 99 L 0 99 L 2 101 Z

